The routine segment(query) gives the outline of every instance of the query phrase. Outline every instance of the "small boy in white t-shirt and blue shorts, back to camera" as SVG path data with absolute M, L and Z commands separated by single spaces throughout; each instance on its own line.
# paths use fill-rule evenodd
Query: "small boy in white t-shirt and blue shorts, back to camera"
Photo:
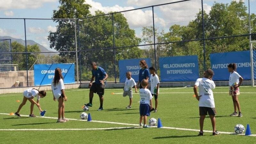
M 142 119 L 144 121 L 143 128 L 149 128 L 147 125 L 147 116 L 150 116 L 150 109 L 152 109 L 151 92 L 147 89 L 148 80 L 141 81 L 142 89 L 140 89 L 140 126 L 142 126 Z

